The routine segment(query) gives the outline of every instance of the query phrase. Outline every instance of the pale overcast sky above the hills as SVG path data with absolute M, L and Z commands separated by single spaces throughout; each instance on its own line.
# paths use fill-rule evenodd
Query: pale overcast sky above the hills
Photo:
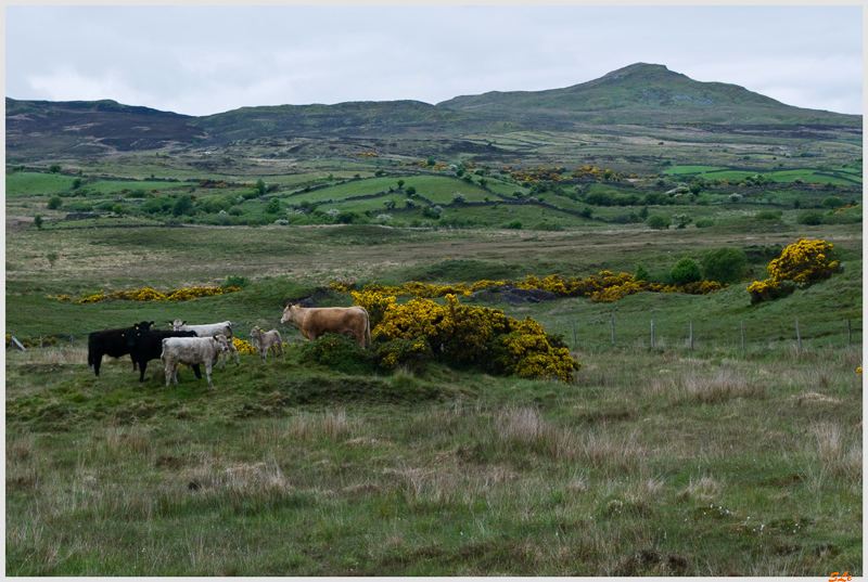
M 635 63 L 863 113 L 863 7 L 5 8 L 5 95 L 204 116 L 587 82 Z

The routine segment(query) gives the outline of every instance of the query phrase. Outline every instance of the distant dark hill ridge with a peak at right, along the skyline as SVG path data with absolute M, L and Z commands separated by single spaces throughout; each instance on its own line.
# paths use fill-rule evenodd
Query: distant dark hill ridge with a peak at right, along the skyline
M 265 137 L 455 138 L 584 126 L 712 124 L 861 128 L 860 115 L 805 109 L 746 89 L 699 82 L 664 65 L 637 63 L 599 79 L 545 91 L 492 91 L 431 105 L 419 101 L 241 107 L 194 117 L 94 102 L 7 98 L 7 157 L 95 155 Z

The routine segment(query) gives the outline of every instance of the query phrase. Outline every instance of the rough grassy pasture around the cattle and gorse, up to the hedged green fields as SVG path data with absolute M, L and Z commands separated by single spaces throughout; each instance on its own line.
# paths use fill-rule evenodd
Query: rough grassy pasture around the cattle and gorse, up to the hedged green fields
M 539 150 L 542 138 L 510 139 Z M 596 146 L 586 138 L 575 145 Z M 735 189 L 710 191 L 649 211 L 713 225 L 654 231 L 622 220 L 639 206 L 551 191 L 535 195 L 601 220 L 495 205 L 498 193 L 529 192 L 505 176 L 487 177 L 493 194 L 435 173 L 373 178 L 373 161 L 337 170 L 310 159 L 290 173 L 286 160 L 234 157 L 231 168 L 224 159 L 197 173 L 184 169 L 194 158 L 150 165 L 159 157 L 79 164 L 86 179 L 106 174 L 84 184 L 92 194 L 81 201 L 133 207 L 142 199 L 122 190 L 171 199 L 191 187 L 203 198 L 250 190 L 151 181 L 152 172 L 239 184 L 264 177 L 277 184 L 266 198 L 284 206 L 318 202 L 366 216 L 407 195 L 339 201 L 403 179 L 446 218 L 484 228 L 444 228 L 421 209 L 394 212 L 400 228 L 215 227 L 170 214 L 65 220 L 46 203 L 68 194 L 74 174 L 8 174 L 5 333 L 56 340 L 5 352 L 8 575 L 863 575 L 860 207 L 842 211 L 858 220 L 805 225 L 800 212 L 831 191 L 757 187 L 738 204 Z M 370 179 L 337 183 L 355 173 Z M 303 192 L 320 183 L 335 185 Z M 455 192 L 492 205 L 452 206 Z M 246 221 L 267 216 L 266 204 L 235 205 Z M 755 218 L 763 209 L 780 214 Z M 35 215 L 42 229 L 27 221 Z M 516 220 L 521 230 L 503 228 Z M 563 230 L 531 230 L 542 222 Z M 799 237 L 834 244 L 843 272 L 752 306 L 748 284 Z M 303 361 L 297 329 L 279 323 L 289 300 L 350 305 L 333 282 L 587 276 L 633 273 L 640 262 L 660 275 L 723 246 L 745 250 L 749 276 L 705 296 L 461 298 L 561 336 L 583 364 L 570 384 L 437 363 L 345 374 Z M 230 276 L 250 283 L 183 302 L 58 300 Z M 167 388 L 158 361 L 143 384 L 126 357 L 105 358 L 99 379 L 88 368 L 90 332 L 176 318 L 230 320 L 242 339 L 254 325 L 278 328 L 286 355 L 263 365 L 242 354 L 240 367 L 215 371 L 213 390 L 184 367 Z

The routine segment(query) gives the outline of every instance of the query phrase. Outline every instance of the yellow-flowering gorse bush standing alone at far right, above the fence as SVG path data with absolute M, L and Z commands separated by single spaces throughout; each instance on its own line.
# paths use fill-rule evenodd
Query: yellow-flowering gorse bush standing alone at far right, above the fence
M 769 279 L 754 281 L 746 290 L 751 294 L 751 303 L 758 303 L 790 295 L 797 287 L 808 287 L 841 270 L 831 243 L 800 238 L 768 263 Z

